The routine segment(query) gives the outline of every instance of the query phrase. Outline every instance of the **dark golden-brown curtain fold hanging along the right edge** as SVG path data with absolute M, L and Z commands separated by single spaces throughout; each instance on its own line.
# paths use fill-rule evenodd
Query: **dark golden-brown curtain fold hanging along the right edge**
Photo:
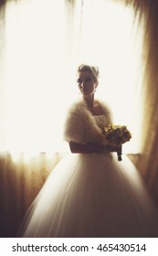
M 140 169 L 158 201 L 158 2 L 146 1 L 144 4 L 143 160 Z

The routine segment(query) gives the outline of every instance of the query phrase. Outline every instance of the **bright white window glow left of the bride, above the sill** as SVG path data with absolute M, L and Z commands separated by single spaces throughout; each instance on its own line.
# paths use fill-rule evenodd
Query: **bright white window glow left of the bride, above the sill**
M 56 2 L 60 13 L 51 3 L 47 1 L 45 11 L 43 1 L 7 6 L 6 146 L 11 152 L 32 154 L 60 147 L 65 109 L 61 112 L 59 103 L 67 102 L 65 89 L 61 91 L 66 80 L 65 20 L 63 1 Z

